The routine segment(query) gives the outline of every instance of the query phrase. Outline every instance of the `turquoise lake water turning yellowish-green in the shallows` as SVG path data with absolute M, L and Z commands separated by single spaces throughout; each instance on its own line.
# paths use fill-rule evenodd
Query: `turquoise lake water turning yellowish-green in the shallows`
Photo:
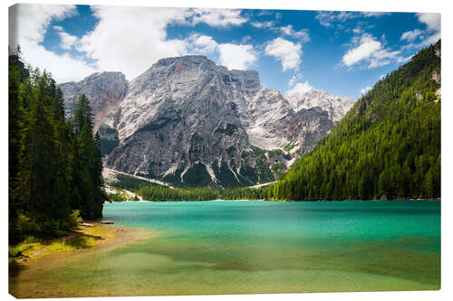
M 40 296 L 440 288 L 440 202 L 117 202 L 103 214 L 158 236 L 34 271 Z

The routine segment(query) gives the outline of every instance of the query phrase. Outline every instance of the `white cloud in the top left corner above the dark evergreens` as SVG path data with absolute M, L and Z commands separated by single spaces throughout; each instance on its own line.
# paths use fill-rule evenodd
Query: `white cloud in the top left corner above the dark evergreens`
M 50 71 L 57 82 L 82 80 L 97 69 L 68 54 L 49 52 L 41 44 L 53 20 L 75 14 L 77 11 L 73 5 L 14 5 L 9 9 L 9 44 L 11 47 L 20 44 L 24 60 L 34 67 Z

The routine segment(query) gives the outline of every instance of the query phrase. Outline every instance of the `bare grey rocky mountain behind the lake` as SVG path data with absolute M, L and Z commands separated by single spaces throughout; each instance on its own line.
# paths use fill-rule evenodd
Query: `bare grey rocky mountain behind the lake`
M 103 72 L 60 88 L 68 110 L 82 93 L 92 99 L 104 165 L 188 186 L 275 181 L 355 102 L 315 89 L 283 96 L 256 71 L 194 55 L 161 59 L 130 82 Z

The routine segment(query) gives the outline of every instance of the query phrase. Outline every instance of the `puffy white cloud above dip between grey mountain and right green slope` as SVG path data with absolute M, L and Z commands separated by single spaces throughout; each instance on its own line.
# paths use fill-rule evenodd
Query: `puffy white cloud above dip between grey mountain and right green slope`
M 406 61 L 407 58 L 400 56 L 400 51 L 390 51 L 384 48 L 370 33 L 363 33 L 360 37 L 353 37 L 354 46 L 342 57 L 342 64 L 352 67 L 355 64 L 365 62 L 368 68 L 377 68 L 389 64 L 391 61 Z

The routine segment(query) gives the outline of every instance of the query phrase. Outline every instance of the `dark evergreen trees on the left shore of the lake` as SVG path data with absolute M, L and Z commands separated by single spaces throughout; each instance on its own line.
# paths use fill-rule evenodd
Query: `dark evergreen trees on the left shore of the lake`
M 102 216 L 107 199 L 99 136 L 84 95 L 65 118 L 63 93 L 47 71 L 8 55 L 9 241 L 54 237 Z

